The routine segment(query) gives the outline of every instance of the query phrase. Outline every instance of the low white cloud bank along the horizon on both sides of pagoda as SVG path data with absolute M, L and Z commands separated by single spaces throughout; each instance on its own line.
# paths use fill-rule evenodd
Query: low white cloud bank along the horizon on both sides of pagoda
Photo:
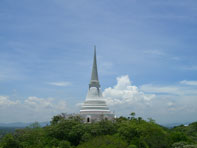
M 197 120 L 195 82 L 183 80 L 174 85 L 138 87 L 124 75 L 117 77 L 113 87 L 104 89 L 103 97 L 117 116 L 136 112 L 137 116 L 153 118 L 160 124 L 192 122 Z M 73 109 L 64 100 L 54 98 L 31 96 L 21 101 L 0 96 L 0 122 L 50 121 L 54 115 L 73 112 Z

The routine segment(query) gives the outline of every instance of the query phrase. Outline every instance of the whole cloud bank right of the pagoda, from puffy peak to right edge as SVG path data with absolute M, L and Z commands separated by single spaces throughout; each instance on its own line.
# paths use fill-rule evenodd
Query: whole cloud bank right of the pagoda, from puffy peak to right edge
M 128 75 L 117 77 L 117 84 L 103 92 L 110 109 L 116 115 L 153 118 L 158 123 L 196 121 L 196 81 L 181 81 L 175 85 L 133 85 Z

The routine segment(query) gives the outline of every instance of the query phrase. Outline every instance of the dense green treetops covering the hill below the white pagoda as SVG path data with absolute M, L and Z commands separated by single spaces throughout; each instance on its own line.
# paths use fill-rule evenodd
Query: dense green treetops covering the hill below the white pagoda
M 34 123 L 6 134 L 0 148 L 197 148 L 197 122 L 168 129 L 134 113 L 91 124 L 58 115 L 48 126 Z

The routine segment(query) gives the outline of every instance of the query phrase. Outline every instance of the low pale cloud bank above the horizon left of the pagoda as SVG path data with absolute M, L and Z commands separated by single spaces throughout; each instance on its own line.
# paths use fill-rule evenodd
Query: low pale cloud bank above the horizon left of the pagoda
M 28 97 L 24 101 L 12 101 L 0 96 L 0 122 L 50 121 L 54 115 L 67 111 L 64 100 Z

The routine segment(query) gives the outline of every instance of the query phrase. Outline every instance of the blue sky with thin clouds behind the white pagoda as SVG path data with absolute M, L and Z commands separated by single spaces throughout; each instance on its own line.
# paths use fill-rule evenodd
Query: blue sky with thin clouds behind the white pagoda
M 196 14 L 195 0 L 1 0 L 0 122 L 78 112 L 94 45 L 104 95 L 118 115 L 197 120 Z M 123 94 L 132 86 L 154 97 L 126 94 L 125 103 L 108 89 L 119 83 Z

